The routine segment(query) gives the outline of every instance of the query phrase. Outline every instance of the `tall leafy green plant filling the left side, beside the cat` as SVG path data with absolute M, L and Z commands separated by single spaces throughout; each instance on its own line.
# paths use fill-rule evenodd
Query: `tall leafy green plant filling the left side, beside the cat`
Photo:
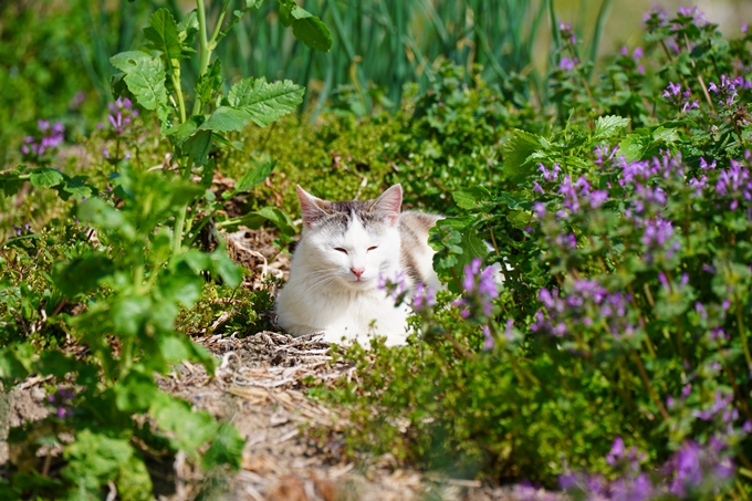
M 197 6 L 203 9 L 203 2 Z M 114 143 L 115 148 L 112 155 L 106 146 L 97 152 L 105 165 L 115 168 L 108 173 L 105 190 L 88 185 L 85 176 L 71 177 L 49 167 L 54 155 L 44 155 L 35 143 L 33 156 L 27 146 L 35 166 L 2 174 L 2 190 L 8 195 L 17 194 L 28 180 L 36 190 L 54 188 L 62 200 L 81 202 L 71 215 L 76 226 L 83 223 L 87 231 L 85 238 L 76 234 L 73 247 L 58 247 L 44 234 L 33 233 L 27 223 L 0 249 L 10 271 L 0 295 L 3 323 L 17 327 L 3 333 L 0 380 L 6 387 L 35 374 L 52 376 L 60 385 L 50 396 L 56 413 L 43 422 L 28 425 L 33 428 L 31 434 L 12 434 L 11 441 L 29 458 L 14 461 L 18 471 L 8 487 L 13 495 L 95 499 L 103 486 L 114 482 L 123 499 L 152 499 L 145 459 L 178 450 L 195 462 L 200 459 L 207 471 L 222 465 L 240 467 L 244 442 L 236 428 L 216 422 L 206 411 L 192 410 L 188 403 L 161 392 L 154 379 L 155 373 L 167 374 L 181 361 L 202 364 L 213 374 L 216 359 L 178 333 L 176 322 L 181 310 L 190 311 L 199 302 L 207 280 L 221 282 L 230 291 L 242 281 L 221 242 L 211 253 L 189 244 L 198 237 L 198 230 L 188 233 L 194 216 L 200 212 L 203 217 L 200 229 L 218 209 L 208 190 L 216 169 L 211 155 L 232 146 L 221 134 L 239 132 L 250 123 L 269 126 L 292 112 L 303 95 L 303 88 L 289 81 L 267 83 L 264 79 L 241 80 L 227 95 L 218 93 L 221 66 L 209 62 L 223 14 L 224 10 L 208 39 L 205 12 L 178 24 L 168 10 L 159 9 L 144 30 L 146 48 L 111 59 L 123 73 L 113 81 L 119 97 L 109 105 L 112 129 L 101 138 Z M 302 9 L 290 14 L 301 39 L 328 49 L 328 32 L 317 18 Z M 200 73 L 207 76 L 188 115 L 179 60 L 196 53 L 191 44 L 197 34 Z M 144 109 L 155 113 L 163 138 L 169 139 L 174 149 L 167 158 L 177 163 L 177 176 L 144 168 L 140 163 L 140 148 L 132 140 L 138 137 L 134 122 Z M 39 127 L 44 132 L 50 125 L 41 121 Z M 54 127 L 58 134 L 62 126 Z M 45 140 L 56 146 L 60 138 Z M 130 148 L 135 148 L 135 158 Z M 274 165 L 270 159 L 260 163 L 241 179 L 233 195 L 262 182 Z M 200 174 L 199 181 L 191 180 L 194 170 Z M 103 180 L 102 176 L 96 179 Z M 258 213 L 283 227 L 288 238 L 294 233 L 292 221 L 279 209 Z M 188 244 L 184 244 L 185 237 L 190 237 Z M 6 248 L 12 249 L 10 255 Z M 49 252 L 52 249 L 54 254 Z M 40 269 L 31 272 L 36 281 L 32 283 L 25 275 L 29 263 L 45 251 L 46 259 L 35 263 Z M 82 304 L 82 312 L 61 312 L 66 302 Z M 19 317 L 19 312 L 23 316 Z M 55 319 L 50 322 L 48 315 Z M 24 321 L 33 322 L 32 332 L 54 323 L 61 334 L 85 346 L 87 355 L 76 358 L 58 343 L 25 336 Z M 36 451 L 42 445 L 56 443 L 60 434 L 74 437 L 62 446 L 65 465 L 60 478 L 48 478 L 48 467 L 38 474 Z

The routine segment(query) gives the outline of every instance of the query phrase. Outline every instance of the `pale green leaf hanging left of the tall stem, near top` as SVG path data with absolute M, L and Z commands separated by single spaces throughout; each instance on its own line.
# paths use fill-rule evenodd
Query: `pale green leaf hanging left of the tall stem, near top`
M 165 66 L 159 58 L 152 58 L 140 51 L 127 51 L 113 55 L 109 62 L 125 73 L 125 83 L 138 104 L 146 109 L 167 104 Z

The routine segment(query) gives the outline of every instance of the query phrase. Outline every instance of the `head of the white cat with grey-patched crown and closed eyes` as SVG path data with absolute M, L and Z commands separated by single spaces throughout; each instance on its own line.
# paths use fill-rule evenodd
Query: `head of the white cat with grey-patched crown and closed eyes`
M 363 201 L 322 200 L 299 186 L 297 198 L 305 259 L 321 280 L 368 290 L 377 286 L 379 274 L 394 274 L 399 264 L 400 185 Z

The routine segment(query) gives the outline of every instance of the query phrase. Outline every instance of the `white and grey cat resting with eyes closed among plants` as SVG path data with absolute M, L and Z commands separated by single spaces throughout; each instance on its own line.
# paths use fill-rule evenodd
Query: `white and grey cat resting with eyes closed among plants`
M 290 280 L 276 302 L 279 325 L 292 335 L 323 333 L 324 341 L 368 345 L 372 333 L 405 344 L 407 304 L 395 306 L 379 278 L 403 273 L 406 286 L 441 288 L 432 267 L 428 231 L 441 219 L 400 211 L 403 188 L 376 199 L 326 201 L 297 187 L 303 233 Z

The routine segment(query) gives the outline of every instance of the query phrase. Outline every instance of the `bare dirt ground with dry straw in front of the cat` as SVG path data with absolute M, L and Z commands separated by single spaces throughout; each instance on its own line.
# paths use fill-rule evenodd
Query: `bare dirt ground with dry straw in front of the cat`
M 248 286 L 262 286 L 268 273 L 284 278 L 289 258 L 269 246 L 271 233 L 241 229 L 227 237 L 233 258 L 258 272 Z M 240 338 L 233 333 L 197 336 L 195 342 L 221 361 L 216 374 L 208 375 L 202 366 L 186 362 L 160 377 L 159 386 L 232 422 L 246 440 L 242 467 L 207 481 L 178 453 L 174 465 L 168 465 L 171 471 L 163 474 L 166 486 L 155 488 L 161 492 L 157 492 L 160 500 L 195 499 L 199 491 L 209 493 L 208 499 L 253 501 L 551 499 L 543 491 L 520 486 L 493 487 L 400 469 L 389 456 L 344 457 L 346 418 L 309 398 L 301 380 L 356 375 L 346 362 L 332 364 L 330 345 L 315 336 L 261 332 Z M 42 419 L 49 413 L 43 383 L 32 377 L 0 394 L 0 474 L 8 461 L 8 445 L 2 439 L 9 427 Z M 314 428 L 326 431 L 310 432 Z

